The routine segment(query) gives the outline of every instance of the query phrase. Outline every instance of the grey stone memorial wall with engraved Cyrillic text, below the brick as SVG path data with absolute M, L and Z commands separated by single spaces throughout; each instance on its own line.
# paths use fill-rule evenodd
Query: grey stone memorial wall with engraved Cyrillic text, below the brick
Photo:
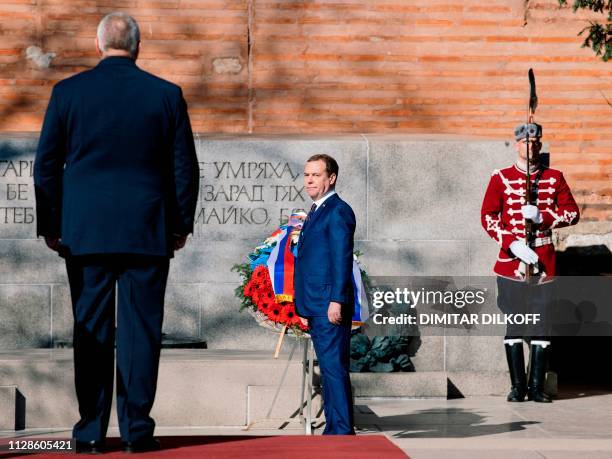
M 0 349 L 71 339 L 62 260 L 35 237 L 35 136 L 0 139 Z M 212 349 L 269 349 L 276 335 L 239 313 L 232 265 L 282 216 L 309 206 L 304 161 L 340 164 L 338 192 L 357 216 L 356 246 L 375 276 L 490 273 L 497 246 L 480 227 L 490 172 L 513 158 L 500 141 L 423 136 L 197 137 L 196 229 L 172 261 L 164 331 Z M 15 191 L 17 190 L 17 191 Z M 21 195 L 19 194 L 21 193 Z M 10 199 L 9 199 L 10 198 Z M 426 337 L 417 371 L 500 371 L 498 337 Z M 492 344 L 495 345 L 492 345 Z M 459 378 L 460 376 L 456 376 Z

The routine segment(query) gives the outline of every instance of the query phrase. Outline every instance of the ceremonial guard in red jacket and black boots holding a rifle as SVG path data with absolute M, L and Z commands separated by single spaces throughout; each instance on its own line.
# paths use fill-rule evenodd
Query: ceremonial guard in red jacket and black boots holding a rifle
M 537 105 L 530 70 L 530 113 L 526 124 L 514 130 L 515 164 L 494 170 L 485 193 L 481 223 L 500 245 L 493 271 L 497 275 L 497 303 L 504 313 L 540 314 L 538 325 L 508 325 L 504 345 L 512 390 L 509 402 L 549 403 L 544 377 L 550 351 L 548 325 L 555 276 L 552 230 L 575 225 L 579 210 L 563 174 L 542 165 L 542 126 L 533 122 Z M 525 374 L 523 339 L 530 341 L 529 376 Z

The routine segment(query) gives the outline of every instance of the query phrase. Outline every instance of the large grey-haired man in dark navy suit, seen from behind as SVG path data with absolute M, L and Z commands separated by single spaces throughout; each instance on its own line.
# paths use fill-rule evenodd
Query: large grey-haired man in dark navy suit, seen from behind
M 181 89 L 136 66 L 139 45 L 130 16 L 100 22 L 102 59 L 53 88 L 34 167 L 38 235 L 66 258 L 81 416 L 73 437 L 81 452 L 104 446 L 115 341 L 125 450 L 159 448 L 149 413 L 169 259 L 192 232 L 197 203 Z

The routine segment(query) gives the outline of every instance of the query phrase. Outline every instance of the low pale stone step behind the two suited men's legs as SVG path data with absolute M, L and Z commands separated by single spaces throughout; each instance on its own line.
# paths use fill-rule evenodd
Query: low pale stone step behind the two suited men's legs
M 287 354 L 275 360 L 264 351 L 163 350 L 152 416 L 159 426 L 167 427 L 246 426 L 266 417 L 286 372 L 271 417 L 288 418 L 299 405 L 302 365 L 298 354 L 288 361 Z M 354 373 L 351 377 L 355 397 L 446 397 L 443 372 Z M 0 353 L 0 385 L 18 387 L 25 397 L 28 428 L 70 427 L 78 417 L 71 350 Z M 320 406 L 317 397 L 313 410 L 319 411 Z M 116 423 L 113 408 L 111 426 Z

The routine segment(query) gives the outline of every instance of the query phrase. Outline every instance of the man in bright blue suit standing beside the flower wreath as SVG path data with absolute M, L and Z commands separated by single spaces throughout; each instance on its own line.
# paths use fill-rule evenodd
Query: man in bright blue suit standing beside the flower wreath
M 304 222 L 295 266 L 295 306 L 308 320 L 323 378 L 323 435 L 354 435 L 349 376 L 354 309 L 355 214 L 336 194 L 338 163 L 314 155 L 304 167 L 306 192 L 314 201 Z

